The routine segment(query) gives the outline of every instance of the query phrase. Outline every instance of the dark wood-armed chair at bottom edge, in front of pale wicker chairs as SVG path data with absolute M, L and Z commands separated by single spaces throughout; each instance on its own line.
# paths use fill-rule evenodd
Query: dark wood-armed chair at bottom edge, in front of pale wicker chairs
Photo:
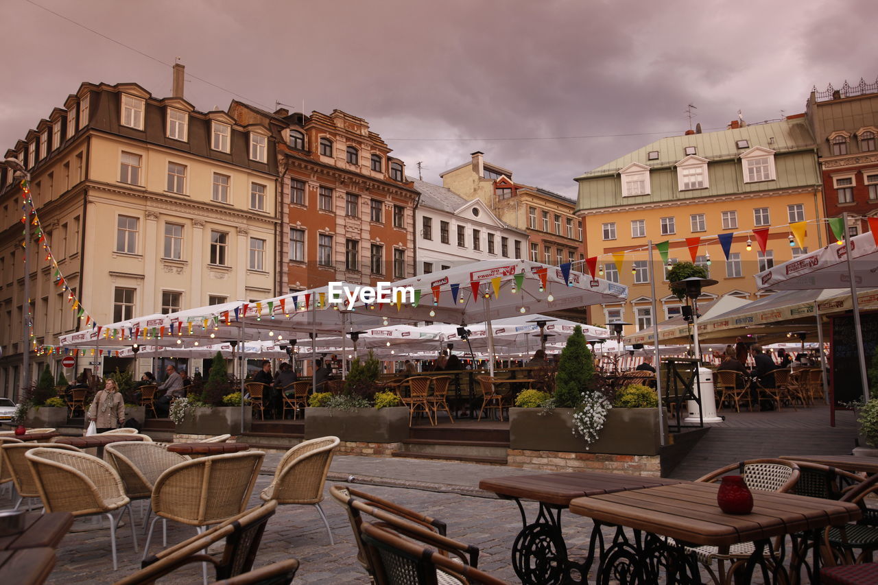
M 269 518 L 274 516 L 276 509 L 277 502 L 266 502 L 262 506 L 232 516 L 225 522 L 184 540 L 179 545 L 148 556 L 142 561 L 140 571 L 126 576 L 114 585 L 152 583 L 193 562 L 211 563 L 217 579 L 227 579 L 245 573 L 253 567 L 265 526 Z M 208 547 L 223 539 L 226 545 L 219 557 L 205 553 Z

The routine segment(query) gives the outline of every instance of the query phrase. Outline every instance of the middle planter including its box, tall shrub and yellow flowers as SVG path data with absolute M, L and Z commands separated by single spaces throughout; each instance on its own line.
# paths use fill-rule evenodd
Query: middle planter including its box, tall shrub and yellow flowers
M 392 406 L 392 399 L 386 396 L 376 397 L 380 372 L 381 364 L 370 351 L 364 362 L 360 358 L 351 362 L 343 394 L 312 394 L 305 416 L 305 438 L 335 436 L 342 441 L 364 443 L 405 441 L 408 408 Z M 376 408 L 372 408 L 373 398 Z

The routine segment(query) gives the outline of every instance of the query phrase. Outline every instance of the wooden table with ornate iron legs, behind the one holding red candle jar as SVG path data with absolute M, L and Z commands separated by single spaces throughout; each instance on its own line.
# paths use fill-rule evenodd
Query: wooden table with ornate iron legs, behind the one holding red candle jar
M 655 488 L 680 480 L 623 475 L 622 473 L 573 472 L 509 475 L 479 481 L 479 488 L 501 498 L 515 500 L 522 514 L 522 531 L 512 545 L 515 574 L 527 585 L 585 581 L 594 562 L 594 543 L 584 562 L 570 560 L 561 531 L 561 511 L 574 499 L 634 489 Z M 536 519 L 528 524 L 522 500 L 539 502 Z M 597 529 L 596 529 L 597 530 Z

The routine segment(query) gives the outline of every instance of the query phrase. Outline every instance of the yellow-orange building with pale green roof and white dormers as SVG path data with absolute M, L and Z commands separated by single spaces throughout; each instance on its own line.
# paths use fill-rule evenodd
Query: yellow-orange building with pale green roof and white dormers
M 674 262 L 692 260 L 695 242 L 687 238 L 699 238 L 695 264 L 719 281 L 702 301 L 770 294 L 756 292 L 753 274 L 827 243 L 817 154 L 802 116 L 665 138 L 576 181 L 586 256 L 596 257 L 597 276 L 629 286 L 628 301 L 591 307 L 589 322 L 627 321 L 626 334 L 680 314 L 683 303 L 670 294 L 665 275 Z M 789 227 L 800 221 L 806 222 L 802 246 L 791 242 Z M 728 260 L 721 238 L 730 242 Z M 651 308 L 650 241 L 668 242 L 667 263 L 653 249 L 658 315 Z

